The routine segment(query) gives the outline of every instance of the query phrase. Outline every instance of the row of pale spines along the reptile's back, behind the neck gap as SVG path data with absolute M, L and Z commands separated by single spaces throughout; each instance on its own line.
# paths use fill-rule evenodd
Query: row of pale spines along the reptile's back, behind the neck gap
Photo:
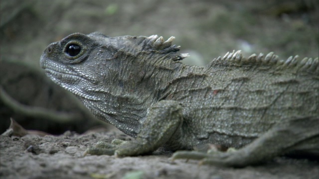
M 319 69 L 319 59 L 318 57 L 313 58 L 303 58 L 299 59 L 299 56 L 291 56 L 286 61 L 280 60 L 274 52 L 268 53 L 264 56 L 263 53 L 260 53 L 258 56 L 256 54 L 252 54 L 248 58 L 242 56 L 241 50 L 233 51 L 232 53 L 227 52 L 224 57 L 219 57 L 217 61 L 228 61 L 230 63 L 236 64 L 270 64 L 276 65 L 280 69 L 282 68 L 297 68 L 300 70 L 307 71 L 318 71 Z

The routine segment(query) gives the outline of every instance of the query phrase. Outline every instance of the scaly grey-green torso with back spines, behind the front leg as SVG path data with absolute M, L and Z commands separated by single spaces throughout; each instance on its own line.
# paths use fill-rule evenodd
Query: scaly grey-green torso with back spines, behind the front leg
M 319 117 L 318 74 L 318 58 L 244 58 L 238 51 L 184 72 L 170 82 L 166 98 L 184 105 L 191 143 L 241 147 L 276 123 Z

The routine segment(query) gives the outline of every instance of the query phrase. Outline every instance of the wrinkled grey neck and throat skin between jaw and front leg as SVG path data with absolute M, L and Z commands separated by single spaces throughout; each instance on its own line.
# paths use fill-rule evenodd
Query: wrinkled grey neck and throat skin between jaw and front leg
M 103 51 L 101 52 L 103 55 Z M 158 54 L 140 50 L 128 53 L 120 49 L 113 58 L 96 66 L 97 82 L 82 88 L 79 96 L 101 120 L 136 137 L 146 120 L 148 108 L 156 103 L 168 83 L 180 76 L 183 64 L 171 60 L 176 52 Z M 79 85 L 85 87 L 87 85 Z

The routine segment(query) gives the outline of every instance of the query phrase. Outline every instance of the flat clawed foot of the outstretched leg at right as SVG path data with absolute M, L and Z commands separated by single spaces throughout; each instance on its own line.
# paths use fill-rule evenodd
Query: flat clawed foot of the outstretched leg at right
M 207 153 L 197 151 L 177 151 L 173 154 L 171 159 L 200 160 L 199 165 L 208 164 L 226 167 L 243 167 L 247 165 L 245 163 L 245 157 L 233 148 L 228 149 L 227 152 L 216 150 L 210 150 Z

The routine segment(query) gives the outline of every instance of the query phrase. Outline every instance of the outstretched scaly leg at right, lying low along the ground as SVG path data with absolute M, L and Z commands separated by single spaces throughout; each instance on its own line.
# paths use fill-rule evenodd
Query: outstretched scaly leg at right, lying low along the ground
M 307 149 L 313 151 L 315 155 L 319 154 L 319 118 L 304 117 L 287 120 L 236 151 L 214 151 L 210 154 L 180 151 L 175 152 L 172 159 L 197 159 L 201 160 L 201 164 L 245 167 L 260 164 L 290 152 L 309 152 L 303 151 Z

